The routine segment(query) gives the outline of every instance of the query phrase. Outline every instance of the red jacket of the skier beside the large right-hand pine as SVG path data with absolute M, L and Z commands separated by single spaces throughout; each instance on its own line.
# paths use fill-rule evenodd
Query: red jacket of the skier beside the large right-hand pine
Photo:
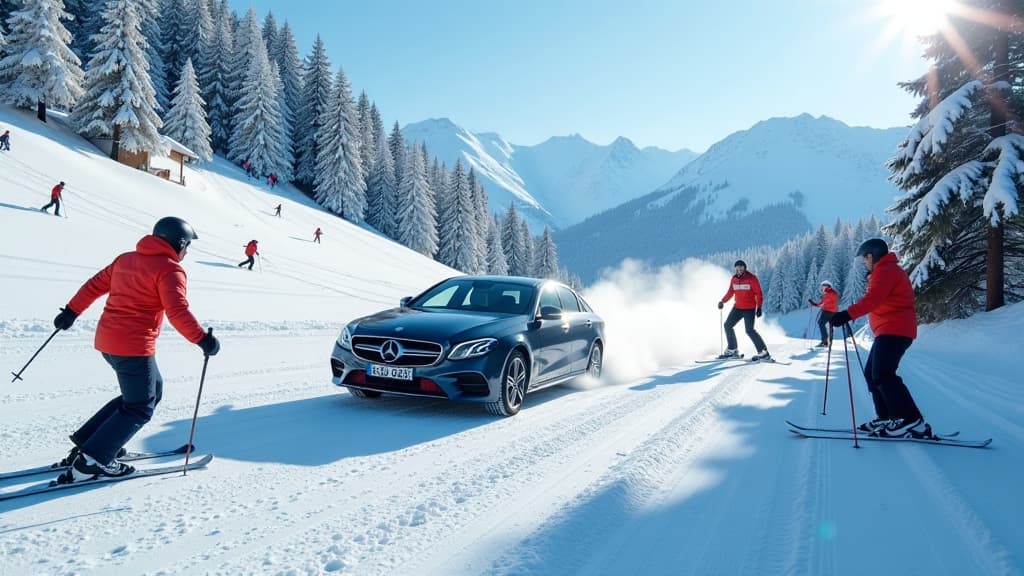
M 868 322 L 876 336 L 918 337 L 918 314 L 913 308 L 910 277 L 899 268 L 896 254 L 882 256 L 867 277 L 864 297 L 850 305 L 851 319 L 869 314 Z

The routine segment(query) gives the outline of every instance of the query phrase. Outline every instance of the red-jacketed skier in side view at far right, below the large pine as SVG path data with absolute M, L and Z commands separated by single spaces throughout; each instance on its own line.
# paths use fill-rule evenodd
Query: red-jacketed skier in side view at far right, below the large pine
M 903 378 L 896 373 L 900 360 L 918 337 L 910 278 L 881 238 L 861 244 L 857 256 L 864 258 L 870 273 L 864 296 L 849 308 L 836 313 L 829 322 L 833 326 L 845 326 L 866 314 L 874 333 L 871 352 L 864 363 L 864 379 L 874 402 L 876 417 L 858 428 L 872 436 L 931 437 L 932 426 L 925 421 Z

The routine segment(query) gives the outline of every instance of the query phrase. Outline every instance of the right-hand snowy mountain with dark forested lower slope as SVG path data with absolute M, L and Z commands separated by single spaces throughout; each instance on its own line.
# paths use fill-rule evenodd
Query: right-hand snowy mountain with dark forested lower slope
M 627 257 L 662 264 L 882 216 L 897 194 L 885 163 L 906 133 L 807 114 L 759 122 L 654 192 L 559 232 L 559 257 L 591 280 Z

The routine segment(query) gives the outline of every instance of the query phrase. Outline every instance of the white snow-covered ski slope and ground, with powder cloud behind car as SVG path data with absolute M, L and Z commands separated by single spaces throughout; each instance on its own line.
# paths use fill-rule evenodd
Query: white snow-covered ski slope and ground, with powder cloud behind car
M 330 383 L 339 327 L 449 270 L 223 162 L 187 170 L 181 188 L 28 113 L 0 108 L 0 127 L 13 134 L 0 153 L 5 369 L 39 347 L 81 282 L 168 213 L 198 229 L 189 299 L 222 343 L 196 428 L 212 464 L 0 502 L 0 575 L 1024 574 L 1024 389 L 1007 354 L 1024 304 L 924 327 L 903 361 L 933 425 L 992 437 L 985 450 L 796 438 L 784 419 L 849 423 L 842 348 L 827 416 L 826 353 L 800 339 L 807 312 L 759 321 L 786 364 L 695 363 L 719 351 L 714 302 L 728 279 L 698 261 L 628 264 L 584 291 L 607 324 L 602 382 L 530 394 L 512 418 L 368 402 Z M 61 178 L 69 217 L 40 213 Z M 262 269 L 239 270 L 252 238 Z M 2 384 L 0 470 L 62 456 L 68 434 L 115 394 L 92 347 L 100 304 L 25 380 Z M 164 398 L 135 450 L 182 444 L 196 407 L 199 348 L 165 325 L 158 349 Z

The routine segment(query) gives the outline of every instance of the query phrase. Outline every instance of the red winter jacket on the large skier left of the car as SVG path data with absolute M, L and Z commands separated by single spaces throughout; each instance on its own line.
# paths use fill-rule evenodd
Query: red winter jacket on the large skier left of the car
M 96 326 L 96 349 L 115 356 L 153 356 L 165 313 L 186 340 L 199 343 L 206 335 L 188 312 L 186 283 L 174 248 L 156 236 L 145 236 L 134 252 L 121 254 L 83 284 L 68 306 L 81 314 L 109 294 Z

